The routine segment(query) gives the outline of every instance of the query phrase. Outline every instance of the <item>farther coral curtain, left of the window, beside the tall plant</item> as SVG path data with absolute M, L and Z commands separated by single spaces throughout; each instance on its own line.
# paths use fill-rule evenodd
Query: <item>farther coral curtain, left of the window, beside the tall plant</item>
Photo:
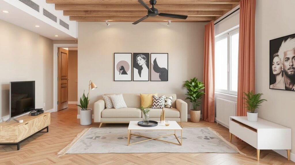
M 213 21 L 205 25 L 204 37 L 204 98 L 202 119 L 209 122 L 214 122 L 215 105 L 214 105 L 214 23 Z

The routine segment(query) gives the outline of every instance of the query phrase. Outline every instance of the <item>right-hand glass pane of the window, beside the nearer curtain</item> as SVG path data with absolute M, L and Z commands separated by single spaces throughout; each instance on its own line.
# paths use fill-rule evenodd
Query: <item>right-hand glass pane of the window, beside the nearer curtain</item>
M 238 89 L 238 54 L 239 33 L 231 36 L 231 63 L 230 63 L 230 90 L 237 92 Z

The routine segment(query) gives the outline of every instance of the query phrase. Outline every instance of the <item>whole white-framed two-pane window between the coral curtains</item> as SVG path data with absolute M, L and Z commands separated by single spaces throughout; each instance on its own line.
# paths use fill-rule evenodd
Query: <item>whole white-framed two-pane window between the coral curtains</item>
M 237 95 L 239 29 L 215 38 L 215 91 Z

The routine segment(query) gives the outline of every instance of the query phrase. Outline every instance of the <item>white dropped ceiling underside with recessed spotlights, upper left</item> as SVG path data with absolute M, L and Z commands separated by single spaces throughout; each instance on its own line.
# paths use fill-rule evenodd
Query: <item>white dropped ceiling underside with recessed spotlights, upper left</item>
M 9 13 L 4 13 L 2 12 L 3 10 L 9 11 Z M 45 36 L 52 40 L 77 40 L 69 34 L 58 30 L 57 28 L 18 9 L 17 7 L 12 6 L 3 0 L 0 0 L 0 19 L 38 33 L 41 36 Z M 40 27 L 37 28 L 35 25 L 39 25 Z M 58 37 L 55 37 L 55 35 L 58 35 Z

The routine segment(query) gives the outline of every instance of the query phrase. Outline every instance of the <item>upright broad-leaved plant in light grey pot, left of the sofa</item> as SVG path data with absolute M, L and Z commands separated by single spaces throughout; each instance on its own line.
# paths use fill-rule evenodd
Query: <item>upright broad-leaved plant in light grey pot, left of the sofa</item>
M 85 92 L 85 91 L 84 91 Z M 89 109 L 89 95 L 85 96 L 83 92 L 83 96 L 80 98 L 80 124 L 81 125 L 90 125 L 92 123 L 92 109 Z

